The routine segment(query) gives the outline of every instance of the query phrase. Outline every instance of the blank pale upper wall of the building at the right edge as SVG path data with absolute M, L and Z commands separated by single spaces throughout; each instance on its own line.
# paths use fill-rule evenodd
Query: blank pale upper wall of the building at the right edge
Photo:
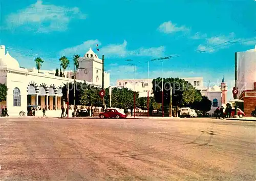
M 254 89 L 256 82 L 256 51 L 238 52 L 238 89 L 239 94 L 243 90 Z

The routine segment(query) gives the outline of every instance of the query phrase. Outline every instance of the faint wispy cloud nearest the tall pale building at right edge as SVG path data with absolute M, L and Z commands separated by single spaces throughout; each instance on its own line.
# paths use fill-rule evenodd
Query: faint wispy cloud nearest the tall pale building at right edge
M 230 33 L 228 36 L 218 35 L 210 38 L 206 38 L 206 44 L 199 44 L 197 52 L 200 53 L 213 53 L 220 49 L 228 48 L 232 43 L 238 42 L 234 39 L 234 33 Z

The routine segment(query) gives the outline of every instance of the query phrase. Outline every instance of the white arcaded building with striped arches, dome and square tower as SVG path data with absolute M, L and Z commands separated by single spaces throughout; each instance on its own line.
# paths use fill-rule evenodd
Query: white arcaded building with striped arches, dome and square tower
M 90 49 L 86 55 L 92 53 Z M 79 80 L 76 81 L 84 82 L 86 80 L 88 84 L 102 86 L 100 81 L 102 80 L 102 60 L 98 59 L 96 54 L 90 58 L 87 58 L 86 55 L 79 60 L 81 69 L 78 73 Z M 82 73 L 82 70 L 87 71 Z M 62 99 L 62 87 L 68 82 L 73 82 L 68 76 L 70 73 L 67 71 L 65 73 L 65 77 L 58 77 L 55 76 L 55 70 L 40 70 L 38 73 L 36 69 L 24 69 L 19 66 L 16 59 L 11 57 L 9 52 L 5 54 L 5 46 L 0 46 L 0 83 L 6 84 L 8 88 L 7 100 L 1 102 L 0 106 L 7 106 L 10 116 L 19 116 L 19 112 L 22 110 L 27 112 L 27 105 L 47 107 L 49 109 L 47 116 L 53 114 L 60 116 L 60 108 L 65 105 Z M 105 73 L 104 77 L 104 87 L 109 87 L 110 74 Z M 89 80 L 92 81 L 89 82 Z M 41 115 L 41 110 L 38 113 Z

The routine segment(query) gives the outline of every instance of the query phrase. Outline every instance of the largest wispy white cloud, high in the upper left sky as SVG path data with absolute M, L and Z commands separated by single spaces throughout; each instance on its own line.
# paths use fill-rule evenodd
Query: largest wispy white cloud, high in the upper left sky
M 38 0 L 26 9 L 8 15 L 6 24 L 8 29 L 25 26 L 30 31 L 47 33 L 67 30 L 72 18 L 84 19 L 86 16 L 77 7 L 43 5 Z

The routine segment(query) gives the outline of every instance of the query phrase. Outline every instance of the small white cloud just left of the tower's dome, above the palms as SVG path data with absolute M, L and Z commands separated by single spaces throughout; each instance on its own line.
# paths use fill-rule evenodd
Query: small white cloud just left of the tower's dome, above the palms
M 78 44 L 77 46 L 61 50 L 59 54 L 60 56 L 70 56 L 73 54 L 83 56 L 90 48 L 96 47 L 96 44 L 100 46 L 100 42 L 97 39 L 84 41 L 82 44 Z

